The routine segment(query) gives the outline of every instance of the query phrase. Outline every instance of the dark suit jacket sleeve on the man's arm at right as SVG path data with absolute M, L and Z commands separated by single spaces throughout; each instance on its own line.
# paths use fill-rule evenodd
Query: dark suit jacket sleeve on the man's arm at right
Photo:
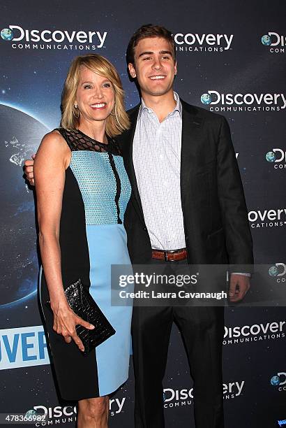
M 218 199 L 225 231 L 229 271 L 251 272 L 253 241 L 248 224 L 239 166 L 236 161 L 229 125 L 221 117 L 217 147 Z

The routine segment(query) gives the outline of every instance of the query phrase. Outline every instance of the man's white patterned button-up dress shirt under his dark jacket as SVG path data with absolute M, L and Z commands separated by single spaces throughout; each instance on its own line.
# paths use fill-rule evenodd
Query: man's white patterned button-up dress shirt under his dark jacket
M 181 208 L 180 168 L 182 106 L 174 92 L 174 110 L 159 122 L 142 105 L 133 140 L 133 164 L 152 248 L 186 247 Z

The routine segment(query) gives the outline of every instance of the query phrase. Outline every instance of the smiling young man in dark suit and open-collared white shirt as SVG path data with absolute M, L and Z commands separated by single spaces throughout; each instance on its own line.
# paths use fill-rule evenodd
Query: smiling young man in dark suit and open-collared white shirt
M 239 301 L 249 288 L 243 266 L 253 264 L 253 250 L 227 121 L 173 92 L 174 41 L 164 27 L 138 29 L 127 61 L 142 96 L 119 138 L 133 188 L 125 215 L 130 258 L 133 264 L 229 264 L 231 272 L 242 272 L 230 276 L 229 299 Z M 26 171 L 32 178 L 31 167 Z M 223 428 L 223 308 L 195 306 L 133 308 L 135 427 L 164 427 L 172 322 L 186 344 L 196 427 Z

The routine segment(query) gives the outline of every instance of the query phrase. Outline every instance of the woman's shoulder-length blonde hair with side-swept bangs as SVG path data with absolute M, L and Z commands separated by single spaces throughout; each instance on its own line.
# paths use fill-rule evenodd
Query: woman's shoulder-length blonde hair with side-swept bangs
M 81 66 L 85 66 L 94 73 L 107 78 L 112 83 L 115 96 L 114 112 L 113 115 L 110 114 L 107 117 L 105 132 L 110 137 L 121 134 L 130 127 L 128 114 L 124 108 L 124 91 L 121 80 L 111 62 L 97 54 L 76 57 L 70 65 L 61 96 L 61 127 L 77 129 L 80 124 L 80 117 L 76 117 L 74 114 L 74 104 Z

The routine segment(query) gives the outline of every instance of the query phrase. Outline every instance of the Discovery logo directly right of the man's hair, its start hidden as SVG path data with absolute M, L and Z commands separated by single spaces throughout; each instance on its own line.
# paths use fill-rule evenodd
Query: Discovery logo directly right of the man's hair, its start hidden
M 225 52 L 232 49 L 233 34 L 173 34 L 177 52 Z

